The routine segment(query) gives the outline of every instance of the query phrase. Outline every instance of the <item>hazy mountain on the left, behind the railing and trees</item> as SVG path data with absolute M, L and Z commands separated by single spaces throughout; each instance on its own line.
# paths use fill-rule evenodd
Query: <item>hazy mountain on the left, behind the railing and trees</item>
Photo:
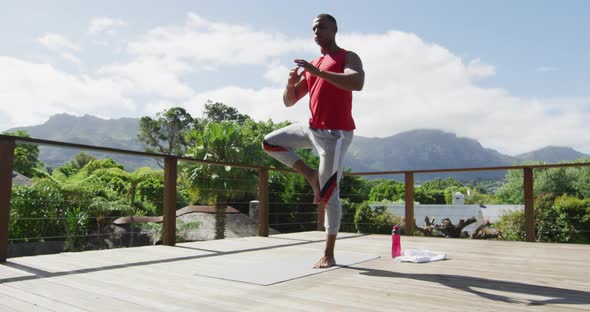
M 143 144 L 137 140 L 138 129 L 138 118 L 101 119 L 91 115 L 77 117 L 58 114 L 49 118 L 44 124 L 8 131 L 25 130 L 31 137 L 37 139 L 143 151 Z M 127 170 L 144 166 L 157 168 L 157 163 L 151 158 L 48 146 L 39 147 L 39 158 L 46 166 L 54 168 L 70 161 L 80 152 L 92 154 L 98 158 L 111 157 L 123 164 Z

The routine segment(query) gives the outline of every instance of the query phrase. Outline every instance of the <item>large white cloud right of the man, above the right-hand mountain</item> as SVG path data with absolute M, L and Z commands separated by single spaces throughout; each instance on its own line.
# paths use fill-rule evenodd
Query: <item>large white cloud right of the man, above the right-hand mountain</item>
M 401 32 L 342 38 L 365 63 L 365 89 L 355 94 L 358 134 L 387 136 L 416 128 L 438 128 L 478 139 L 516 154 L 567 144 L 590 151 L 589 101 L 561 107 L 564 100 L 527 99 L 474 80 L 494 74 L 479 59 L 465 62 L 451 51 Z M 551 108 L 565 110 L 548 114 Z M 572 137 L 572 135 L 574 135 Z

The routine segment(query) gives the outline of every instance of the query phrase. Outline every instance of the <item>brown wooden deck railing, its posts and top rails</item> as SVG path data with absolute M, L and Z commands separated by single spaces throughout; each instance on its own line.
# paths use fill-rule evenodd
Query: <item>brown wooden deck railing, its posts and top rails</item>
M 5 262 L 8 257 L 8 236 L 10 199 L 12 189 L 12 169 L 14 162 L 14 150 L 17 143 L 35 144 L 42 146 L 72 148 L 79 150 L 107 152 L 128 156 L 148 157 L 164 160 L 164 221 L 163 221 L 163 244 L 174 246 L 176 244 L 176 186 L 178 161 L 186 161 L 212 166 L 229 166 L 258 171 L 258 235 L 268 236 L 269 234 L 269 172 L 294 172 L 289 169 L 269 168 L 264 166 L 246 165 L 240 163 L 227 163 L 218 161 L 200 160 L 190 157 L 166 155 L 158 153 L 131 151 L 117 148 L 108 148 L 84 144 L 66 143 L 34 138 L 23 138 L 15 136 L 0 135 L 0 262 Z M 499 167 L 477 167 L 477 168 L 447 168 L 427 170 L 402 170 L 402 171 L 381 171 L 381 172 L 353 172 L 346 173 L 351 176 L 383 176 L 400 175 L 405 177 L 405 217 L 404 225 L 406 233 L 413 233 L 414 228 L 414 176 L 421 173 L 449 173 L 466 171 L 497 171 L 497 170 L 522 170 L 524 173 L 524 206 L 525 206 L 525 228 L 526 241 L 535 241 L 535 215 L 533 201 L 533 169 L 559 168 L 559 167 L 587 167 L 590 163 L 573 164 L 544 164 L 544 165 L 519 165 Z M 318 207 L 317 228 L 323 228 L 324 212 L 323 207 Z

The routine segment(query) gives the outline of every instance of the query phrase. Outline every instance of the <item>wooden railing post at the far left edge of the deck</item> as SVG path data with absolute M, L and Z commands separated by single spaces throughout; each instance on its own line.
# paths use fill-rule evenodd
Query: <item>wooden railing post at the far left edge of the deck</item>
M 10 195 L 14 139 L 0 139 L 0 263 L 8 258 L 8 225 L 10 224 Z

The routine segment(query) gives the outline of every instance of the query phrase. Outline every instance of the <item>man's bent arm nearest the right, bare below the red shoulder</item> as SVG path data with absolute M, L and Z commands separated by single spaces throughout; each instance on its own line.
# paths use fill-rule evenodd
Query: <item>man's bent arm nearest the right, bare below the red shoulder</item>
M 295 60 L 295 63 L 297 63 L 298 66 L 303 67 L 311 75 L 325 79 L 344 90 L 360 91 L 365 84 L 365 71 L 363 70 L 361 58 L 351 51 L 346 53 L 343 73 L 320 70 L 305 60 Z

